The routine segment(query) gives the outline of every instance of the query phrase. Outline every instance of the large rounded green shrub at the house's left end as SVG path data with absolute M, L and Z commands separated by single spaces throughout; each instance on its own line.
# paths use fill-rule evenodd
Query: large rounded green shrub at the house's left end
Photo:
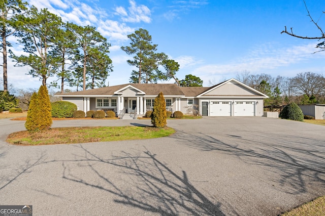
M 77 110 L 77 105 L 69 101 L 55 101 L 51 103 L 51 106 L 52 117 L 56 118 L 71 118 Z

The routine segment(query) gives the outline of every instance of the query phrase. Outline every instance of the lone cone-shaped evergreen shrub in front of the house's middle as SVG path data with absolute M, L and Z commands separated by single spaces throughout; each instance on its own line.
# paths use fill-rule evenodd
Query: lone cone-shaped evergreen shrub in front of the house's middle
M 154 99 L 153 111 L 151 113 L 151 123 L 155 127 L 166 127 L 166 102 L 162 92 Z

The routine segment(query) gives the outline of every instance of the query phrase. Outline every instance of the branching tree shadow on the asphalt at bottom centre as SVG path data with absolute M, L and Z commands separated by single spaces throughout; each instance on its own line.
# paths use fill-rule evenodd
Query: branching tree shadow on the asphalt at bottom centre
M 90 169 L 94 174 L 92 176 L 98 177 L 102 184 L 73 174 L 67 161 L 62 163 L 63 179 L 109 192 L 116 196 L 116 203 L 161 215 L 224 215 L 220 203 L 210 201 L 194 187 L 186 171 L 177 174 L 148 150 L 137 155 L 122 152 L 122 155 L 103 159 L 82 146 L 80 148 L 85 155 L 77 161 L 82 163 L 83 168 Z M 96 168 L 98 165 L 119 168 L 121 174 L 129 179 L 127 187 L 118 186 L 118 182 Z

